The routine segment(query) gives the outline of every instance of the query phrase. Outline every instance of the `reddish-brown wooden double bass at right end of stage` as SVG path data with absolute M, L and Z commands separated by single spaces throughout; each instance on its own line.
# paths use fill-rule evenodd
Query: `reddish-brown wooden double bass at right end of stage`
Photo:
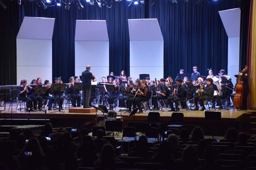
M 247 68 L 248 68 L 248 66 L 245 65 L 245 68 L 242 70 L 243 74 L 247 71 Z M 242 107 L 243 107 L 243 96 L 244 96 L 244 82 L 241 81 L 241 75 L 239 75 L 234 89 L 236 91 L 236 95 L 234 97 L 233 106 L 236 109 L 242 109 Z

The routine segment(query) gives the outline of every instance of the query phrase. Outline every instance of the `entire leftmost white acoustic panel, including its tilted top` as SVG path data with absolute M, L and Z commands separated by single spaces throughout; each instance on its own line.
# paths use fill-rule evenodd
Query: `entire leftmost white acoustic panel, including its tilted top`
M 54 18 L 25 17 L 17 35 L 17 84 L 26 79 L 52 79 Z M 44 82 L 43 82 L 44 83 Z

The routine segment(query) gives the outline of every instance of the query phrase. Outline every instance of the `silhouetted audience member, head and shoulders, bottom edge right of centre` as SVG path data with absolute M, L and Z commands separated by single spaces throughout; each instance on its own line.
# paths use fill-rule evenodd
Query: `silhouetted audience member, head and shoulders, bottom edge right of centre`
M 181 158 L 174 161 L 174 169 L 179 170 L 193 170 L 201 165 L 202 163 L 198 159 L 194 145 L 187 145 L 182 152 Z

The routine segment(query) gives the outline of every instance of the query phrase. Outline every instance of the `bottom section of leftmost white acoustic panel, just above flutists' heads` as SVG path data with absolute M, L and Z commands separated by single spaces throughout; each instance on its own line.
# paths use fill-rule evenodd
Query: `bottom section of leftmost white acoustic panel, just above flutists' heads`
M 51 66 L 17 66 L 17 84 L 20 85 L 20 81 L 26 79 L 28 84 L 33 79 L 38 77 L 42 78 L 42 83 L 45 80 L 52 81 L 52 67 Z

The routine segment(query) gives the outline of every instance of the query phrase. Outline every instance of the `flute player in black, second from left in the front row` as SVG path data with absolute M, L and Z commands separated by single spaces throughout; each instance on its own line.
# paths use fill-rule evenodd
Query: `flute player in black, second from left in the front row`
M 43 98 L 42 98 L 43 94 L 41 97 L 39 94 L 33 94 L 35 89 L 38 87 L 38 86 L 36 86 L 36 83 L 37 83 L 36 79 L 33 79 L 30 84 L 33 84 L 35 86 L 28 85 L 28 91 L 29 91 L 28 97 L 33 100 L 34 110 L 37 110 L 37 102 L 38 102 L 39 109 L 42 109 L 42 105 L 43 105 Z

